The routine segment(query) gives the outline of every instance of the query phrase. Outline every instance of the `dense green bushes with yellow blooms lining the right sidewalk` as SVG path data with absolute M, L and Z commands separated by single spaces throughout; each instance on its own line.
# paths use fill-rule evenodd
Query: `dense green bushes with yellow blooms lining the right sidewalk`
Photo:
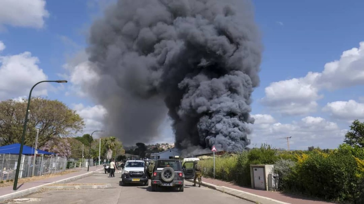
M 213 159 L 201 161 L 213 176 Z M 277 151 L 269 145 L 216 158 L 215 178 L 250 187 L 250 164 L 274 164 L 282 191 L 327 200 L 364 203 L 364 148 L 341 144 L 336 150 Z

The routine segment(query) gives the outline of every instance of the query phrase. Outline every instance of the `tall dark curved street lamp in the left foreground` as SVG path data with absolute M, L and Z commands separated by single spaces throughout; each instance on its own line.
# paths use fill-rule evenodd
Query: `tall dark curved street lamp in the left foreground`
M 14 179 L 14 185 L 13 185 L 13 190 L 16 191 L 17 188 L 17 183 L 18 183 L 18 176 L 19 176 L 19 171 L 20 171 L 20 162 L 21 162 L 21 155 L 23 154 L 23 146 L 24 146 L 24 138 L 25 138 L 25 131 L 27 130 L 27 122 L 28 122 L 28 113 L 29 113 L 29 105 L 30 105 L 30 99 L 32 96 L 32 91 L 34 89 L 34 87 L 36 85 L 38 85 L 39 83 L 43 83 L 43 82 L 57 82 L 57 83 L 67 83 L 66 80 L 56 80 L 56 81 L 40 81 L 38 83 L 36 83 L 29 92 L 29 98 L 28 98 L 28 106 L 27 106 L 27 111 L 25 112 L 25 121 L 24 121 L 24 127 L 23 127 L 23 134 L 21 135 L 21 142 L 20 142 L 20 150 L 19 150 L 19 156 L 18 156 L 18 163 L 16 166 L 16 172 L 15 172 L 15 179 Z

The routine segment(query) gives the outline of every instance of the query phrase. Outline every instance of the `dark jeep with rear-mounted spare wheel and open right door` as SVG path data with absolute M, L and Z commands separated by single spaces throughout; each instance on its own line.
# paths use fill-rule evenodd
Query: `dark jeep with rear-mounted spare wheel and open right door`
M 158 159 L 151 178 L 152 191 L 157 191 L 158 187 L 177 187 L 178 191 L 183 192 L 185 179 L 194 178 L 194 170 L 190 173 L 185 175 L 182 163 L 178 159 Z

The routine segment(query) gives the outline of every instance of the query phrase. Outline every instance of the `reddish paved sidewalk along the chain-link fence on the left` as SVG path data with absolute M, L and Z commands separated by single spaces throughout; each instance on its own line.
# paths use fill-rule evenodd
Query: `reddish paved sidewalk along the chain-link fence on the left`
M 89 172 L 98 170 L 100 168 L 103 168 L 103 167 L 102 166 L 90 167 Z M 47 179 L 44 179 L 44 180 L 31 181 L 31 182 L 27 182 L 27 183 L 23 183 L 23 184 L 18 183 L 18 188 L 17 188 L 16 191 L 13 190 L 13 185 L 2 187 L 2 188 L 0 188 L 0 196 L 7 195 L 9 193 L 19 192 L 21 190 L 29 189 L 29 188 L 32 188 L 32 187 L 37 187 L 37 186 L 40 186 L 40 185 L 44 185 L 44 184 L 47 184 L 47 183 L 52 183 L 52 182 L 55 182 L 55 181 L 71 178 L 73 176 L 78 176 L 78 175 L 82 175 L 82 174 L 86 174 L 86 173 L 87 173 L 87 168 L 82 168 L 82 169 L 80 168 L 79 171 L 72 172 L 70 174 L 55 176 L 55 177 L 47 178 Z

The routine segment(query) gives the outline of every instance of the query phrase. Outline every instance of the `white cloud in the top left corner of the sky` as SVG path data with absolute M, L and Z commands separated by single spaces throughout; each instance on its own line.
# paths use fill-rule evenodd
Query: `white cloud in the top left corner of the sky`
M 4 25 L 42 28 L 49 16 L 45 0 L 1 0 L 0 27 Z

